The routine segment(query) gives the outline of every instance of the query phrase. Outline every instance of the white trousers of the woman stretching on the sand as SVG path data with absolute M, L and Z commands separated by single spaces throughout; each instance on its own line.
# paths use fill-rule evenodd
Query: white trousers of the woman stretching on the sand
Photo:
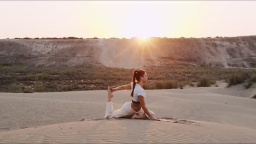
M 151 115 L 155 115 L 153 111 L 148 110 Z M 109 118 L 119 118 L 119 117 L 132 117 L 134 114 L 137 115 L 143 115 L 145 112 L 143 109 L 140 111 L 136 112 L 132 109 L 131 107 L 131 101 L 126 102 L 120 109 L 118 110 L 113 110 L 113 103 L 112 101 L 107 102 L 107 107 L 106 107 L 106 115 L 104 118 L 109 119 Z M 146 115 L 147 116 L 147 115 Z

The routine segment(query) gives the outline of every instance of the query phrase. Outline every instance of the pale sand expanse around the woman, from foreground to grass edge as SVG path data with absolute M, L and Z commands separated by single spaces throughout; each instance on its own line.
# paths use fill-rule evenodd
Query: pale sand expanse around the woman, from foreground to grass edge
M 0 143 L 256 143 L 256 100 L 225 91 L 224 85 L 146 90 L 156 117 L 188 123 L 98 119 L 107 91 L 0 93 Z M 129 94 L 114 92 L 114 109 Z

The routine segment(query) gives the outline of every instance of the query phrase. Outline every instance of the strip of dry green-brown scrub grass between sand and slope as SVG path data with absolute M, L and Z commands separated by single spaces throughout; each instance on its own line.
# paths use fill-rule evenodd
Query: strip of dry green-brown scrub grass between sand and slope
M 108 86 L 117 87 L 130 83 L 133 70 L 108 68 L 103 65 L 78 65 L 76 67 L 68 67 L 67 65 L 59 67 L 21 67 L 11 65 L 0 67 L 0 91 L 60 92 L 107 89 Z M 246 73 L 243 74 L 244 76 L 256 75 L 256 70 L 224 69 L 207 65 L 193 67 L 191 65 L 169 64 L 149 67 L 145 70 L 149 77 L 149 82 L 144 85 L 145 89 L 183 88 L 185 85 L 194 86 L 193 83 L 199 83 L 199 86 L 209 86 L 209 83 L 214 85 L 217 80 L 237 83 L 239 82 L 239 80 L 237 81 L 237 75 L 242 73 Z M 235 82 L 233 82 L 234 80 Z

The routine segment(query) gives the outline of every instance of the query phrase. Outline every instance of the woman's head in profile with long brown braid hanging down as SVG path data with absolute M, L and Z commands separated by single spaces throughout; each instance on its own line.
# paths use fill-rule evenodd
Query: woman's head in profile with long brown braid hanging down
M 148 76 L 145 70 L 139 69 L 139 70 L 134 70 L 132 74 L 132 92 L 131 92 L 131 97 L 133 97 L 133 91 L 136 85 L 136 82 L 143 82 L 146 83 L 148 81 Z

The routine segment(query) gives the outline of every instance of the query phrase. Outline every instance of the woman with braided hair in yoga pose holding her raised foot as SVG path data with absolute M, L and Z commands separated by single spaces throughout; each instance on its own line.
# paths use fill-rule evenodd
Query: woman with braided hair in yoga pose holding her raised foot
M 131 117 L 133 119 L 155 118 L 155 113 L 148 110 L 145 103 L 146 94 L 143 89 L 144 83 L 148 81 L 148 76 L 145 70 L 134 70 L 132 82 L 127 85 L 122 85 L 116 88 L 108 87 L 108 101 L 106 107 L 105 118 Z M 120 109 L 113 110 L 112 92 L 123 89 L 132 89 L 131 101 L 125 103 Z

